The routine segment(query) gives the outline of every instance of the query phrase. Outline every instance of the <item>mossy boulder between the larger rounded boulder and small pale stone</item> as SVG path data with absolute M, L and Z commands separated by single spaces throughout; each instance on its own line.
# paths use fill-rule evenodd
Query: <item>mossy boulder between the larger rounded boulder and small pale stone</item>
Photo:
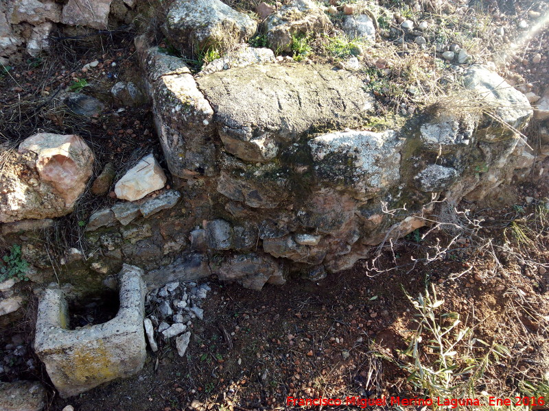
M 310 36 L 331 29 L 328 16 L 312 0 L 294 0 L 270 14 L 264 22 L 267 38 L 274 49 L 290 51 L 292 36 Z

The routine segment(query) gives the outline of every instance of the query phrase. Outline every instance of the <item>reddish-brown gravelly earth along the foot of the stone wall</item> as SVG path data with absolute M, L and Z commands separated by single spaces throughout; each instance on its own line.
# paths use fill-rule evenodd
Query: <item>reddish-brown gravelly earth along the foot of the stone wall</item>
M 457 363 L 490 358 L 476 380 L 477 395 L 526 395 L 532 390 L 525 382 L 539 390 L 535 395 L 547 395 L 547 211 L 539 214 L 540 203 L 528 203 L 526 197 L 517 197 L 513 207 L 471 214 L 483 220 L 478 234 L 462 237 L 457 247 L 427 265 L 421 258 L 436 242 L 448 240 L 445 229 L 426 238 L 421 229 L 393 250 L 384 250 L 375 269 L 364 262 L 321 282 L 292 278 L 283 287 L 267 286 L 261 292 L 203 284 L 189 292 L 191 299 L 193 292 L 206 298 L 198 318 L 187 320 L 191 338 L 183 357 L 176 338 L 156 336 L 159 349 L 148 352 L 141 373 L 78 398 L 50 397 L 49 409 L 70 404 L 75 410 L 283 410 L 288 396 L 414 397 L 418 391 L 406 380 L 408 373 L 401 368 L 406 358 L 399 351 L 406 349 L 416 314 L 407 295 L 425 295 L 431 286 L 445 300 L 441 313 L 456 312 L 463 327 L 474 329 L 468 343 L 458 346 Z M 531 242 L 511 232 L 513 221 L 532 236 Z M 504 238 L 509 248 L 501 248 Z M 412 257 L 420 259 L 415 268 Z M 172 301 L 170 316 L 185 301 L 174 285 L 150 297 L 148 310 L 158 321 L 166 310 L 163 301 Z M 168 291 L 172 288 L 174 294 Z M 471 343 L 472 338 L 487 346 Z M 25 342 L 16 343 L 22 343 L 14 347 L 19 353 L 6 349 L 4 361 L 29 358 Z M 474 350 L 468 353 L 469 343 Z M 493 344 L 508 347 L 509 355 L 490 356 Z M 36 371 L 27 369 L 23 375 L 36 376 Z M 454 383 L 460 381 L 456 377 Z

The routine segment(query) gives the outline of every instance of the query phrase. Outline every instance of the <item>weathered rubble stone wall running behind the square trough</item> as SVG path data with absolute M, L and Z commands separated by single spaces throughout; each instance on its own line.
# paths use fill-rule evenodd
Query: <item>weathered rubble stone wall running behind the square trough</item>
M 36 3 L 52 21 L 79 24 L 78 13 L 67 11 L 73 1 Z M 32 13 L 17 4 L 3 4 L 4 15 L 23 24 Z M 93 4 L 103 17 L 88 26 L 108 25 L 105 8 L 112 13 L 115 0 Z M 231 12 L 235 23 L 218 26 L 226 9 L 215 10 L 213 28 L 250 36 L 246 18 Z M 179 33 L 189 49 L 219 34 L 191 35 L 178 18 L 192 22 L 192 14 L 174 13 L 167 35 Z M 269 21 L 282 40 L 301 27 L 279 20 Z M 327 24 L 318 22 L 318 30 Z M 209 275 L 253 290 L 284 284 L 289 273 L 318 280 L 423 227 L 433 200 L 478 201 L 532 169 L 546 175 L 544 128 L 535 151 L 519 132 L 533 113 L 528 99 L 483 66 L 469 66 L 461 79 L 463 108 L 441 102 L 371 132 L 364 124 L 375 116 L 375 99 L 351 71 L 228 44 L 228 53 L 194 74 L 148 38 L 135 43 L 171 180 L 159 159 L 143 158 L 116 183 L 117 202 L 91 213 L 83 247 L 58 256 L 44 240 L 89 182 L 91 149 L 78 136 L 31 136 L 10 153 L 21 173 L 0 183 L 1 240 L 22 244 L 34 283 L 55 280 L 69 298 L 115 287 L 124 263 L 145 270 L 148 288 Z M 78 184 L 63 186 L 69 174 Z M 393 209 L 401 211 L 387 212 Z M 14 280 L 0 284 L 0 315 L 19 308 L 18 290 Z

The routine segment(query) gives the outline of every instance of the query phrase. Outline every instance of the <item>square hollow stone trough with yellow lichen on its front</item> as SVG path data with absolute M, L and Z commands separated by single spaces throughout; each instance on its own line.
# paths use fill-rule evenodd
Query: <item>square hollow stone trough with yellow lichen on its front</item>
M 62 398 L 78 395 L 115 378 L 129 377 L 145 364 L 143 270 L 124 264 L 119 273 L 120 308 L 114 319 L 69 329 L 61 290 L 40 297 L 34 349 Z

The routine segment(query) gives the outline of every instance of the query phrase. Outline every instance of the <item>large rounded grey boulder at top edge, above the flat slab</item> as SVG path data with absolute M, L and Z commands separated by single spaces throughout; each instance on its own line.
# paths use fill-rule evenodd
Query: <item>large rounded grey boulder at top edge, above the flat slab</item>
M 176 0 L 163 29 L 172 45 L 190 54 L 208 47 L 226 51 L 253 36 L 257 23 L 220 0 Z

